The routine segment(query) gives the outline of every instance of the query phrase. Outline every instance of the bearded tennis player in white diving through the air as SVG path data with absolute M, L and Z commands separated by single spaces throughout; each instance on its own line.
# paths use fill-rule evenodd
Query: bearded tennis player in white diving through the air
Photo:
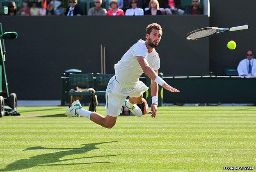
M 160 42 L 161 36 L 162 27 L 157 23 L 149 24 L 146 27 L 146 41 L 139 40 L 114 65 L 115 76 L 110 79 L 106 90 L 106 117 L 82 109 L 78 100 L 72 103 L 66 115 L 68 117 L 83 116 L 106 128 L 112 128 L 115 125 L 122 105 L 130 109 L 134 115 L 142 116 L 137 103 L 142 103 L 142 95 L 149 89 L 139 81 L 139 76 L 144 72 L 151 78 L 151 117 L 155 117 L 158 105 L 158 84 L 168 91 L 180 92 L 157 75 L 160 59 L 155 47 Z M 127 96 L 130 97 L 129 100 L 126 100 Z

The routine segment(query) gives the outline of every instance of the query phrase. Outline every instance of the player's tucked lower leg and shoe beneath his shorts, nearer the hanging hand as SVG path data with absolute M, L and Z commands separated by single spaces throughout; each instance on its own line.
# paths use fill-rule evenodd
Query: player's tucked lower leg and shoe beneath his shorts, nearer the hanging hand
M 142 102 L 142 95 L 140 95 L 139 97 L 130 97 L 129 100 L 124 101 L 123 105 L 128 108 L 133 115 L 141 117 L 143 113 L 139 106 L 137 106 L 137 103 L 140 104 Z

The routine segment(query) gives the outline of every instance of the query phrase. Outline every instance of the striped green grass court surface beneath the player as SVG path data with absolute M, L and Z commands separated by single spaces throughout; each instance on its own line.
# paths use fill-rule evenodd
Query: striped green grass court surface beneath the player
M 86 107 L 88 109 L 88 107 Z M 66 107 L 0 118 L 0 171 L 220 171 L 256 165 L 256 107 L 159 107 L 112 129 Z M 98 112 L 105 115 L 103 106 Z

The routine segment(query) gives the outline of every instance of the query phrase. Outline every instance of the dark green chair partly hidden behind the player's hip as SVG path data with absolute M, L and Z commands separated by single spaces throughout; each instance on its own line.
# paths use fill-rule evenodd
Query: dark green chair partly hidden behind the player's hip
M 105 95 L 107 84 L 115 74 L 96 74 L 96 95 Z

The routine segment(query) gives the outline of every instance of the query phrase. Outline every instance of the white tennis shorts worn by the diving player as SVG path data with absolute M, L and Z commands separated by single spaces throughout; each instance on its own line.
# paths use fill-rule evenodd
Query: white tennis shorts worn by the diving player
M 106 89 L 106 112 L 107 115 L 116 117 L 120 115 L 123 102 L 127 96 L 129 97 L 139 97 L 145 91 L 147 87 L 142 81 L 138 81 L 133 87 L 125 87 L 121 85 L 113 76 L 107 84 Z

